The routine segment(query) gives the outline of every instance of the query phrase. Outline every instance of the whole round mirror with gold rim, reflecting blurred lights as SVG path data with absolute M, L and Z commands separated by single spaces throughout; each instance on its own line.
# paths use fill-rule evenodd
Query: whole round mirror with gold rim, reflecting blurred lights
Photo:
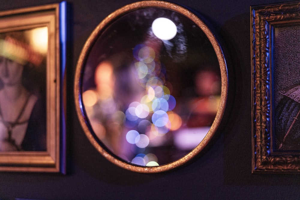
M 91 143 L 135 172 L 181 166 L 211 140 L 227 96 L 222 49 L 189 10 L 140 1 L 116 10 L 88 38 L 75 101 Z

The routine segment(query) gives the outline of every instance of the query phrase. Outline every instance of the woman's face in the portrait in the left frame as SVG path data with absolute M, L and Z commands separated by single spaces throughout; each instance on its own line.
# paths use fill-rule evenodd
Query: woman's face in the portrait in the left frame
M 21 82 L 23 65 L 0 56 L 0 79 L 4 85 L 11 86 Z

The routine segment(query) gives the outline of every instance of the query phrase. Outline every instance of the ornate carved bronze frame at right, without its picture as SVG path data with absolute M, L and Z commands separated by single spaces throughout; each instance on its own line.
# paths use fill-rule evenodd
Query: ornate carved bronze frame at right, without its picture
M 273 28 L 300 22 L 300 3 L 251 7 L 252 173 L 299 173 L 299 152 L 272 143 Z

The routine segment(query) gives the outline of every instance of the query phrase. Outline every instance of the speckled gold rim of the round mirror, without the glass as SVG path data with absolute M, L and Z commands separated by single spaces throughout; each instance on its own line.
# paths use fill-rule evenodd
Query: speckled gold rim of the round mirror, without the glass
M 196 25 L 201 28 L 201 30 L 205 33 L 205 35 L 208 37 L 209 41 L 211 42 L 211 45 L 214 48 L 214 51 L 217 55 L 217 59 L 219 61 L 220 65 L 220 71 L 221 71 L 221 100 L 220 100 L 220 106 L 217 111 L 217 115 L 214 119 L 213 124 L 211 125 L 210 130 L 204 137 L 204 139 L 199 143 L 199 145 L 196 146 L 192 151 L 190 151 L 188 154 L 186 154 L 184 157 L 165 165 L 161 166 L 153 166 L 153 167 L 144 167 L 144 166 L 137 166 L 134 164 L 127 163 L 125 161 L 122 161 L 118 159 L 116 156 L 110 154 L 107 152 L 94 138 L 92 133 L 90 132 L 88 125 L 86 124 L 85 116 L 83 114 L 83 103 L 81 99 L 81 84 L 82 84 L 82 70 L 84 69 L 85 61 L 87 60 L 88 53 L 91 50 L 94 42 L 97 40 L 97 38 L 100 36 L 102 31 L 112 22 L 114 22 L 116 19 L 121 17 L 122 15 L 129 13 L 133 10 L 141 9 L 141 8 L 147 8 L 147 7 L 159 7 L 159 8 L 166 8 L 169 10 L 176 11 L 178 13 L 181 13 L 182 15 L 186 16 L 188 19 L 193 21 Z M 91 33 L 90 37 L 86 41 L 82 52 L 79 56 L 79 60 L 76 66 L 76 73 L 75 73 L 75 80 L 74 80 L 74 97 L 75 97 L 75 104 L 76 104 L 76 111 L 77 115 L 79 117 L 80 124 L 88 137 L 89 141 L 94 145 L 94 147 L 110 162 L 116 164 L 119 167 L 128 169 L 130 171 L 134 172 L 142 172 L 142 173 L 157 173 L 157 172 L 164 172 L 167 170 L 175 169 L 179 166 L 182 166 L 183 164 L 190 161 L 193 157 L 195 157 L 197 154 L 199 154 L 200 151 L 203 150 L 203 148 L 208 144 L 208 142 L 212 139 L 214 134 L 217 131 L 217 128 L 220 124 L 220 121 L 222 119 L 224 110 L 225 110 L 225 104 L 227 100 L 227 92 L 228 92 L 228 77 L 227 77 L 227 66 L 226 66 L 226 60 L 223 55 L 223 51 L 220 47 L 220 44 L 218 40 L 216 39 L 215 35 L 211 32 L 211 30 L 208 28 L 208 26 L 202 22 L 201 19 L 199 19 L 196 15 L 191 13 L 189 10 L 187 10 L 184 7 L 181 7 L 177 4 L 173 4 L 170 2 L 165 1 L 139 1 L 136 3 L 128 4 L 115 12 L 111 13 L 109 16 L 107 16 Z

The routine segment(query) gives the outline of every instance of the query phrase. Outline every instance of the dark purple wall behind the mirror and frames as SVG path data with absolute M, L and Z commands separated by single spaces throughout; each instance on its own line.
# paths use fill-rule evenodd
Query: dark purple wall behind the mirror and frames
M 0 10 L 58 3 L 2 0 Z M 210 22 L 231 63 L 229 104 L 222 129 L 201 157 L 172 172 L 140 174 L 107 161 L 83 132 L 73 80 L 81 49 L 107 15 L 134 0 L 69 0 L 71 46 L 67 68 L 67 175 L 0 173 L 1 199 L 299 199 L 297 175 L 251 174 L 250 5 L 279 0 L 172 0 Z M 1 22 L 0 22 L 1 23 Z

